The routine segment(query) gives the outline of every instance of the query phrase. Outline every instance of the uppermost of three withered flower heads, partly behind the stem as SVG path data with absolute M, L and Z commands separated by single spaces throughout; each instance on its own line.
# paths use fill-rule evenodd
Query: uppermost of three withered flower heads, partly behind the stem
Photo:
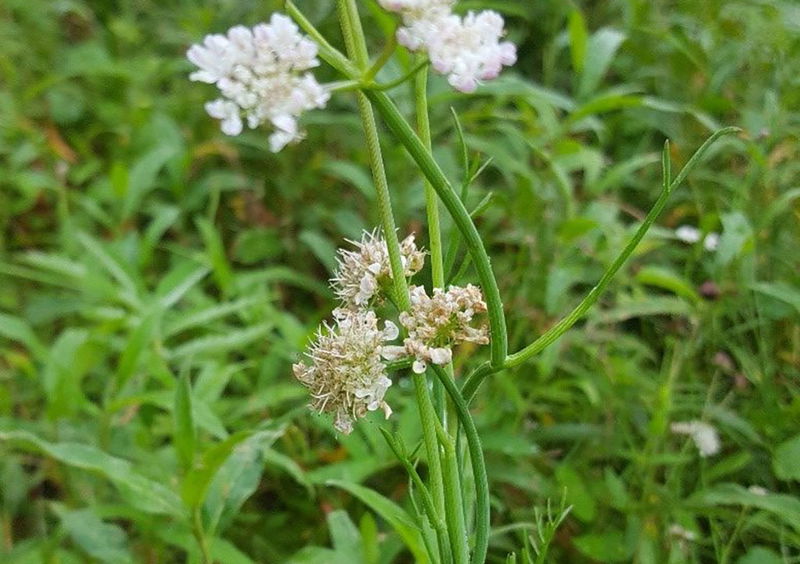
M 336 275 L 331 286 L 345 308 L 365 308 L 373 299 L 379 301 L 381 288 L 392 278 L 389 250 L 378 231 L 364 232 L 361 241 L 349 241 L 355 250 L 339 249 Z M 400 243 L 400 260 L 405 275 L 411 277 L 425 264 L 425 253 L 417 249 L 414 235 Z

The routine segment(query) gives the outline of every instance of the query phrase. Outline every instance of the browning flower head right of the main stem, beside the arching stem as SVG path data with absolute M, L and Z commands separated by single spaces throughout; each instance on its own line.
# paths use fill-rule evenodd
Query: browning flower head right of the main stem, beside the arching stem
M 485 325 L 470 325 L 476 314 L 486 311 L 486 302 L 477 286 L 450 286 L 447 291 L 434 288 L 433 297 L 422 286 L 412 286 L 410 297 L 411 310 L 400 314 L 400 323 L 408 331 L 408 337 L 403 347 L 388 347 L 385 356 L 413 356 L 414 372 L 422 373 L 428 362 L 440 365 L 450 362 L 453 345 L 489 342 Z

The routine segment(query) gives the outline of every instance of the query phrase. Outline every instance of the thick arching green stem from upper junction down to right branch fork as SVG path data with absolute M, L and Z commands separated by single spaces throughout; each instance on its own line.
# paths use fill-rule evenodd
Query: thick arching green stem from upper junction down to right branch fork
M 467 250 L 475 263 L 486 305 L 489 310 L 489 327 L 491 331 L 491 358 L 492 365 L 501 367 L 508 352 L 508 335 L 506 334 L 506 319 L 503 314 L 503 302 L 500 298 L 500 290 L 497 287 L 497 280 L 492 271 L 489 255 L 483 246 L 483 240 L 478 233 L 469 212 L 464 207 L 461 199 L 453 190 L 450 181 L 442 172 L 442 169 L 433 159 L 431 153 L 425 148 L 420 138 L 411 129 L 408 122 L 397 109 L 394 102 L 384 93 L 374 90 L 365 91 L 365 95 L 375 106 L 375 109 L 383 116 L 389 129 L 397 139 L 405 146 L 411 157 L 422 170 L 422 173 L 430 181 L 433 189 L 439 195 L 445 208 L 453 218 L 453 222 L 458 228 Z

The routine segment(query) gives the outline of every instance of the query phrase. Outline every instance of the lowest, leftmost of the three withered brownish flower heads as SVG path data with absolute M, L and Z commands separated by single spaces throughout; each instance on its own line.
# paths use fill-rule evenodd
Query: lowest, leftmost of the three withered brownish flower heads
M 378 328 L 372 311 L 335 312 L 334 326 L 324 324 L 303 362 L 292 369 L 295 377 L 311 392 L 311 407 L 334 414 L 334 426 L 342 433 L 353 430 L 353 422 L 368 411 L 382 409 L 388 418 L 392 410 L 384 395 L 392 381 L 381 360 L 385 341 L 397 338 L 391 321 Z

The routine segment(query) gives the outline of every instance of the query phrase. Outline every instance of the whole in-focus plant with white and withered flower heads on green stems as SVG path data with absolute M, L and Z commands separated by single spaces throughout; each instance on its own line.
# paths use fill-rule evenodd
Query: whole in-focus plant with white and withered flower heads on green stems
M 396 42 L 417 53 L 419 59 L 401 81 L 382 84 L 375 77 L 397 46 L 390 43 L 371 61 L 356 0 L 338 0 L 337 4 L 346 54 L 287 1 L 289 16 L 273 15 L 269 24 L 252 29 L 237 26 L 224 36 L 211 35 L 202 45 L 193 46 L 188 57 L 199 70 L 191 78 L 219 88 L 222 98 L 207 104 L 206 110 L 221 120 L 224 133 L 239 134 L 243 118 L 249 127 L 268 123 L 272 127 L 272 151 L 302 139 L 298 118 L 303 112 L 324 107 L 334 91 L 355 91 L 381 228 L 353 242 L 355 250 L 339 251 L 338 270 L 331 281 L 339 307 L 333 312 L 333 321 L 320 327 L 305 357 L 294 365 L 294 375 L 309 389 L 312 408 L 332 413 L 334 427 L 346 434 L 370 411 L 382 410 L 390 416 L 386 397 L 392 384 L 390 374 L 410 367 L 423 429 L 425 482 L 405 446 L 389 433 L 385 436 L 421 500 L 415 534 L 422 538 L 425 552 L 415 553 L 415 557 L 431 562 L 484 562 L 490 523 L 489 485 L 470 401 L 489 376 L 536 356 L 586 314 L 653 225 L 672 191 L 711 143 L 731 129 L 714 134 L 675 178 L 665 146 L 661 194 L 628 244 L 572 312 L 528 346 L 509 353 L 495 272 L 470 213 L 433 157 L 427 101 L 429 66 L 446 76 L 454 89 L 470 93 L 482 82 L 497 77 L 503 67 L 514 64 L 516 48 L 503 40 L 503 18 L 491 10 L 460 15 L 455 11 L 455 0 L 380 0 L 382 8 L 397 14 Z M 317 57 L 333 67 L 343 82 L 320 85 L 310 72 L 319 64 Z M 406 81 L 414 86 L 414 125 L 388 94 L 393 86 Z M 402 242 L 398 238 L 375 112 L 425 179 L 430 289 L 410 284 L 423 268 L 426 253 L 417 247 L 413 235 Z M 440 205 L 467 249 L 477 285 L 448 284 Z M 383 308 L 387 302 L 394 306 L 397 323 L 382 318 L 382 312 L 389 309 Z M 402 343 L 393 344 L 401 337 L 401 327 Z M 457 385 L 453 350 L 464 342 L 488 345 L 489 359 L 472 368 Z M 434 376 L 432 385 L 429 374 Z M 679 428 L 677 432 L 694 430 Z M 466 456 L 462 456 L 464 451 Z M 462 464 L 464 460 L 469 464 Z M 463 484 L 468 483 L 464 478 L 470 473 L 475 503 L 474 514 L 468 519 L 468 494 Z

